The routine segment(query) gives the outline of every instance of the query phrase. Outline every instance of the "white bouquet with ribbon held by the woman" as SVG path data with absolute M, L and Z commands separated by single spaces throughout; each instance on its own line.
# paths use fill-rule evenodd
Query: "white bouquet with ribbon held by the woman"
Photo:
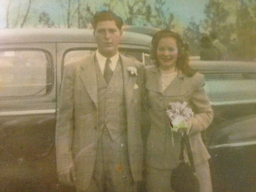
M 194 116 L 194 113 L 192 109 L 187 107 L 187 102 L 185 101 L 182 104 L 180 102 L 170 102 L 167 107 L 166 113 L 171 120 L 170 127 L 173 142 L 173 132 L 178 132 L 180 128 L 182 129 L 182 131 L 187 131 L 189 129 L 189 126 L 187 125 L 186 121 Z

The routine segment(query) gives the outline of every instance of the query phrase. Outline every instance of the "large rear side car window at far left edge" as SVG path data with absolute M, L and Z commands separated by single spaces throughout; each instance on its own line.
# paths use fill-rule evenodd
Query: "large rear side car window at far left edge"
M 49 58 L 41 50 L 0 51 L 0 97 L 46 94 L 53 80 Z

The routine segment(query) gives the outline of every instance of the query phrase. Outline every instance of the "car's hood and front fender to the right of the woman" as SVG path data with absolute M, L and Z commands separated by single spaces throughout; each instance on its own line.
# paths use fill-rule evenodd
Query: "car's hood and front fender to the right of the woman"
M 207 131 L 213 191 L 256 189 L 256 63 L 191 60 L 214 109 Z

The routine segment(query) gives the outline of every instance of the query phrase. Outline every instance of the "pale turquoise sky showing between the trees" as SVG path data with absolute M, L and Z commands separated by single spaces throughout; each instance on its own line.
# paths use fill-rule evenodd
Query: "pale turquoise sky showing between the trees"
M 6 26 L 6 10 L 9 1 L 10 0 L 0 0 L 0 28 Z M 35 15 L 35 12 L 45 11 L 50 15 L 56 25 L 61 25 L 63 23 L 63 10 L 60 8 L 57 0 L 34 1 L 36 1 L 37 4 L 36 7 L 32 7 L 29 15 L 30 18 L 34 17 L 33 15 Z M 65 0 L 62 1 L 65 2 Z M 18 0 L 13 0 L 13 2 L 18 2 Z M 21 2 L 23 5 L 26 5 L 28 0 L 21 0 Z M 91 7 L 100 10 L 103 0 L 89 2 Z M 154 5 L 155 0 L 148 0 L 148 2 L 150 2 L 151 5 Z M 166 0 L 165 8 L 168 7 L 170 12 L 174 14 L 176 24 L 180 27 L 184 27 L 189 23 L 191 17 L 193 17 L 197 23 L 204 19 L 204 5 L 207 2 L 208 0 Z M 17 14 L 17 11 L 11 11 L 10 14 Z M 117 14 L 122 15 L 122 12 Z M 38 20 L 38 15 L 34 19 Z

